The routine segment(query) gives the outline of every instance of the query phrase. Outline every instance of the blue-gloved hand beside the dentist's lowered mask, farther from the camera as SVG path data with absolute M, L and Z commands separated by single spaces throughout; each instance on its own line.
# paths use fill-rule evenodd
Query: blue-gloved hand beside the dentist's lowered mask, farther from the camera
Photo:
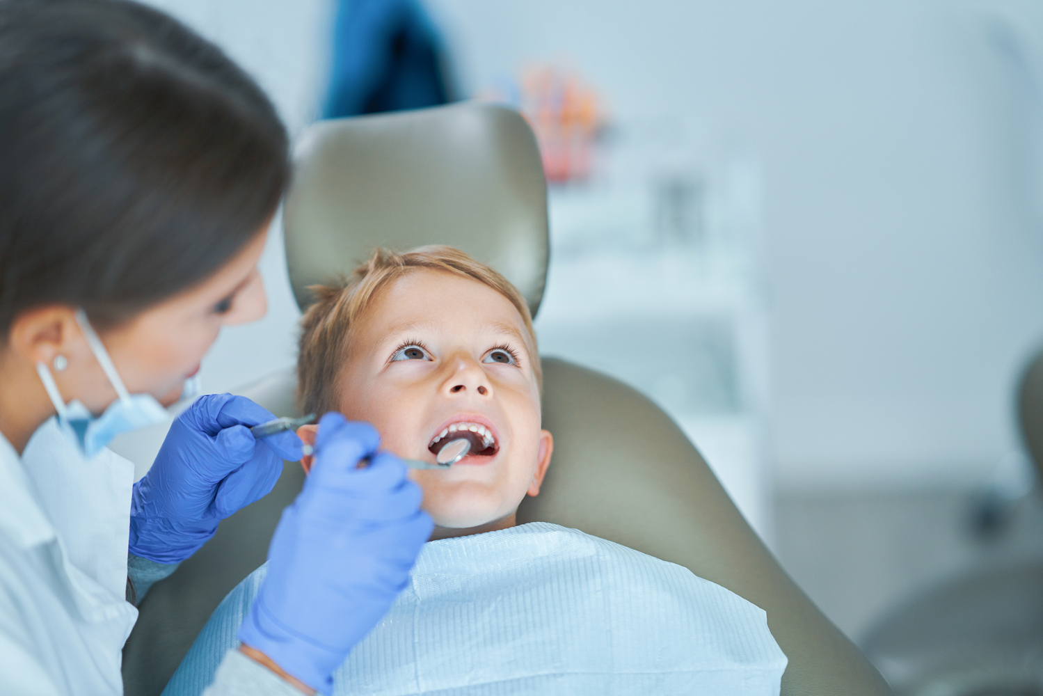
M 209 394 L 189 406 L 134 485 L 130 553 L 176 563 L 207 543 L 217 524 L 267 496 L 283 460 L 300 459 L 291 431 L 256 439 L 250 426 L 275 416 L 245 397 Z

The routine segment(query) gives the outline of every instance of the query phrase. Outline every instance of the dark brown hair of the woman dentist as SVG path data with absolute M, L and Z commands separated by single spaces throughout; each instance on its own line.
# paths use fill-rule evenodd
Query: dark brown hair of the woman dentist
M 275 212 L 287 142 L 253 79 L 161 11 L 0 0 L 0 336 L 42 305 L 105 328 L 211 277 Z

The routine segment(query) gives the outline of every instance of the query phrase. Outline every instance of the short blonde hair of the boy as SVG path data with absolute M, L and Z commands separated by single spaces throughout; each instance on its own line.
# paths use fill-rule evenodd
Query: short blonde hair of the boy
M 300 319 L 297 354 L 297 404 L 305 413 L 324 413 L 337 408 L 337 381 L 348 347 L 348 334 L 377 292 L 414 269 L 439 270 L 487 285 L 507 297 L 522 315 L 532 341 L 532 370 L 542 391 L 542 371 L 536 352 L 532 315 L 522 293 L 511 282 L 460 249 L 435 244 L 395 253 L 377 249 L 369 261 L 355 269 L 350 280 L 339 285 L 309 288 L 317 299 Z

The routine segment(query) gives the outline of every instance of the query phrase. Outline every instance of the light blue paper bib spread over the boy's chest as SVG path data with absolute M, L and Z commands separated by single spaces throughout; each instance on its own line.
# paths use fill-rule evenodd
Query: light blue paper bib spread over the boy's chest
M 348 693 L 378 691 L 351 675 L 386 666 L 387 646 L 410 646 L 403 675 L 455 670 L 469 679 L 461 655 L 475 655 L 505 683 L 529 685 L 496 693 L 540 691 L 526 681 L 537 674 L 564 679 L 540 682 L 547 693 L 567 692 L 561 685 L 574 677 L 584 688 L 613 685 L 613 693 L 769 693 L 735 685 L 777 689 L 785 667 L 753 604 L 681 566 L 548 523 L 429 543 L 410 584 L 341 672 L 361 685 Z

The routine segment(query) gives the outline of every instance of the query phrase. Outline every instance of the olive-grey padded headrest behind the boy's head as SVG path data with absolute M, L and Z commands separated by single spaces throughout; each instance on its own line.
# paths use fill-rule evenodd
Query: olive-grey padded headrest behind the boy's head
M 448 244 L 503 273 L 533 315 L 548 263 L 539 149 L 510 109 L 447 106 L 320 121 L 300 138 L 283 222 L 290 282 L 350 274 L 378 246 Z

